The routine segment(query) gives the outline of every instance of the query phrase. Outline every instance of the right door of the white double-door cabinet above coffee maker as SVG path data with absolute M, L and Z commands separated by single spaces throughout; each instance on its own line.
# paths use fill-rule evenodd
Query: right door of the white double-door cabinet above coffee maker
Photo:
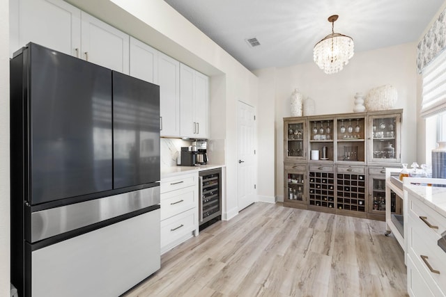
M 208 138 L 208 104 L 209 78 L 196 71 L 194 114 L 195 122 L 197 122 L 197 136 L 195 136 L 197 138 Z

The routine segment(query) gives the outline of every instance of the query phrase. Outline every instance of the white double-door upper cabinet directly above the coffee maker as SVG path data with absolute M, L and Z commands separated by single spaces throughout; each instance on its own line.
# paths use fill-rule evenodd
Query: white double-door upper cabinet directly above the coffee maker
M 180 136 L 208 138 L 208 84 L 206 75 L 180 65 Z

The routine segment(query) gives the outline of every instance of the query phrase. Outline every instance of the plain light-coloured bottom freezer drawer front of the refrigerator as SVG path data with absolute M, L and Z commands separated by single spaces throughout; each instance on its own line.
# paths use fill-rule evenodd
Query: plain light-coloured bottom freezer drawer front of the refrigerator
M 156 209 L 33 251 L 32 296 L 119 296 L 159 268 Z

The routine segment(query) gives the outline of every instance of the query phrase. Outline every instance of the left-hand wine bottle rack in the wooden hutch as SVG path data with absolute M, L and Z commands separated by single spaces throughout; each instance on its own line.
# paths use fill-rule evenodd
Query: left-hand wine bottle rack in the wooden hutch
M 309 205 L 334 209 L 334 173 L 309 172 Z

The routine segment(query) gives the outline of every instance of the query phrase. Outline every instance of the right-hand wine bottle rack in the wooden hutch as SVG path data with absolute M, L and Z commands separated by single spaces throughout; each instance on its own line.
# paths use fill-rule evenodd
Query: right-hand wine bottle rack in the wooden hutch
M 337 174 L 337 208 L 366 211 L 366 183 L 364 174 Z

